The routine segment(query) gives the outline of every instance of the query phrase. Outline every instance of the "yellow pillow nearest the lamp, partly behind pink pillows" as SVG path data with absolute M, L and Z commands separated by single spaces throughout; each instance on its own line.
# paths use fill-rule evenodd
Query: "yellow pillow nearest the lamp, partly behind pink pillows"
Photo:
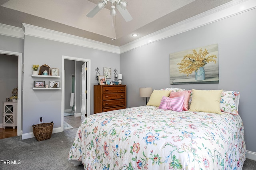
M 162 97 L 169 97 L 170 92 L 171 91 L 168 90 L 154 90 L 149 98 L 147 105 L 159 107 Z

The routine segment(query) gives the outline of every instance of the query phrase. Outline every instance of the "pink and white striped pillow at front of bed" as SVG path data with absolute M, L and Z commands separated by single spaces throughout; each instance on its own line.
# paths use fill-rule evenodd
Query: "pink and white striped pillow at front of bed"
M 185 96 L 179 96 L 174 98 L 163 96 L 158 108 L 181 112 L 183 110 L 184 100 Z

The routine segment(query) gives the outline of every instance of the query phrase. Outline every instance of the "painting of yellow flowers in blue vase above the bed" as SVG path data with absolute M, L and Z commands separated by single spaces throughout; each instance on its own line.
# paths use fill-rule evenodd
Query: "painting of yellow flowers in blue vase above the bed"
M 219 83 L 218 44 L 170 54 L 170 84 Z

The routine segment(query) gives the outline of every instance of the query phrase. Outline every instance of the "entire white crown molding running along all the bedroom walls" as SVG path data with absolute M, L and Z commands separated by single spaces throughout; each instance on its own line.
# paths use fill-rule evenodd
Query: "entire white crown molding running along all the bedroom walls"
M 222 6 L 218 6 L 212 10 L 198 14 L 197 16 L 166 27 L 120 47 L 25 23 L 22 23 L 22 28 L 0 24 L 0 34 L 22 39 L 24 38 L 24 35 L 28 35 L 120 54 L 254 8 L 256 8 L 256 0 L 232 0 Z

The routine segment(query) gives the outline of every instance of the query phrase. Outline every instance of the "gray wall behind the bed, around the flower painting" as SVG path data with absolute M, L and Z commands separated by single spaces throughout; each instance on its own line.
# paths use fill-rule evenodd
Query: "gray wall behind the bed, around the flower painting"
M 240 91 L 239 115 L 247 150 L 256 152 L 256 9 L 120 54 L 127 106 L 145 105 L 140 87 Z M 218 43 L 218 84 L 170 85 L 169 54 Z

